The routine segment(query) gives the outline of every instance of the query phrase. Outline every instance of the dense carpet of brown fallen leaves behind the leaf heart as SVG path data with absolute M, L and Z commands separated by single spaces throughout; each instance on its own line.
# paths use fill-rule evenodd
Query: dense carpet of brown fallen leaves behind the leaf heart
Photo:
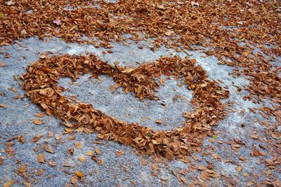
M 237 67 L 235 74 L 250 77 L 248 99 L 278 101 L 280 69 L 270 60 L 281 55 L 280 21 L 277 0 L 6 0 L 0 2 L 0 46 L 30 36 L 57 36 L 110 48 L 111 41 L 126 44 L 124 34 L 136 42 L 155 38 L 152 50 L 162 44 L 176 50 L 203 46 L 222 64 Z

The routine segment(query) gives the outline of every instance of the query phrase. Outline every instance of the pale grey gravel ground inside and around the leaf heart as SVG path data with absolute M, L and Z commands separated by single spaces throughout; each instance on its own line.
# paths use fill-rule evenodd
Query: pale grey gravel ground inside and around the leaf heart
M 191 155 L 188 163 L 177 160 L 167 162 L 155 156 L 139 155 L 133 148 L 112 141 L 98 140 L 98 144 L 94 133 L 65 133 L 65 127 L 53 116 L 45 116 L 43 125 L 34 125 L 32 120 L 37 118 L 34 114 L 40 109 L 23 97 L 22 82 L 16 80 L 15 76 L 25 73 L 25 67 L 39 60 L 42 53 L 74 55 L 89 52 L 95 53 L 109 64 L 118 61 L 122 66 L 135 67 L 164 55 L 185 57 L 187 54 L 176 53 L 164 47 L 152 52 L 148 47 L 138 48 L 133 42 L 129 46 L 114 43 L 111 49 L 113 53 L 103 55 L 105 50 L 77 43 L 65 43 L 59 39 L 44 42 L 36 38 L 0 48 L 0 62 L 6 63 L 6 67 L 0 67 L 0 104 L 7 106 L 6 109 L 0 108 L 0 158 L 4 160 L 0 165 L 0 184 L 13 179 L 13 186 L 66 186 L 75 171 L 85 174 L 84 180 L 77 181 L 78 186 L 185 186 L 185 180 L 188 184 L 203 186 L 251 186 L 261 183 L 264 179 L 281 180 L 280 166 L 270 169 L 261 162 L 272 159 L 270 149 L 280 141 L 280 137 L 270 139 L 266 134 L 266 127 L 259 121 L 267 121 L 270 124 L 277 122 L 274 118 L 264 118 L 260 113 L 252 113 L 250 110 L 270 106 L 270 102 L 254 104 L 244 101 L 242 97 L 248 92 L 238 92 L 237 88 L 246 86 L 247 79 L 234 78 L 230 75 L 231 67 L 217 64 L 216 57 L 206 57 L 200 51 L 187 53 L 207 71 L 209 79 L 218 81 L 222 86 L 228 86 L 230 98 L 224 102 L 232 103 L 232 112 L 214 127 L 216 136 L 206 139 L 202 152 Z M 11 57 L 5 58 L 5 53 Z M 74 84 L 70 79 L 62 78 L 59 85 L 70 88 L 69 92 L 64 93 L 68 97 L 74 95 L 79 102 L 89 102 L 94 108 L 110 116 L 130 123 L 140 123 L 154 130 L 171 130 L 181 127 L 184 122 L 183 111 L 192 110 L 192 92 L 186 85 L 178 86 L 178 83 L 181 81 L 166 79 L 164 86 L 157 92 L 159 102 L 140 102 L 133 95 L 126 95 L 122 89 L 112 91 L 109 89 L 113 84 L 112 78 L 106 76 L 101 76 L 100 80 L 93 80 L 89 79 L 89 75 L 84 75 Z M 13 99 L 15 95 L 22 98 Z M 155 120 L 162 120 L 164 123 L 157 124 Z M 278 130 L 280 131 L 280 126 Z M 258 139 L 250 137 L 254 132 L 257 132 Z M 32 142 L 33 137 L 38 134 L 43 137 L 37 143 Z M 17 139 L 11 140 L 21 135 L 24 139 L 23 144 Z M 270 141 L 266 142 L 268 139 Z M 13 157 L 8 157 L 7 142 L 14 143 L 11 146 L 15 151 Z M 53 148 L 54 153 L 44 151 L 41 147 L 44 144 Z M 253 146 L 257 146 L 264 155 L 251 156 Z M 74 148 L 73 155 L 67 152 L 67 148 Z M 96 148 L 100 149 L 98 159 L 103 160 L 103 165 L 98 165 L 91 160 L 91 156 L 85 155 Z M 117 151 L 125 153 L 117 157 Z M 39 153 L 44 153 L 45 163 L 37 162 Z M 86 160 L 81 162 L 81 157 Z M 49 161 L 55 162 L 56 166 L 51 167 Z M 217 176 L 202 180 L 200 165 L 209 165 Z M 22 172 L 22 166 L 26 166 L 25 172 Z

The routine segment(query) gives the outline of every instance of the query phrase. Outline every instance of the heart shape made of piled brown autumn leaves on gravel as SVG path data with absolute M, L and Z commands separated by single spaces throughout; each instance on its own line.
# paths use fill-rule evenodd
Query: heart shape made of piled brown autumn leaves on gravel
M 58 79 L 75 80 L 86 73 L 93 74 L 93 78 L 100 74 L 111 76 L 117 87 L 122 86 L 125 92 L 133 92 L 140 99 L 157 99 L 153 91 L 159 87 L 157 80 L 161 75 L 182 78 L 193 91 L 191 102 L 195 111 L 185 112 L 185 127 L 172 131 L 155 132 L 137 123 L 122 122 L 93 109 L 91 104 L 77 104 L 63 96 L 64 88 L 58 86 Z M 163 155 L 169 160 L 181 160 L 201 150 L 202 141 L 211 134 L 211 126 L 226 115 L 220 99 L 229 96 L 228 90 L 207 79 L 206 72 L 195 65 L 195 60 L 180 57 L 162 57 L 129 69 L 110 66 L 95 55 L 53 56 L 27 67 L 23 78 L 27 97 L 48 115 L 53 114 L 74 129 L 83 126 L 84 132 L 98 132 L 99 138 L 133 146 L 141 153 Z

